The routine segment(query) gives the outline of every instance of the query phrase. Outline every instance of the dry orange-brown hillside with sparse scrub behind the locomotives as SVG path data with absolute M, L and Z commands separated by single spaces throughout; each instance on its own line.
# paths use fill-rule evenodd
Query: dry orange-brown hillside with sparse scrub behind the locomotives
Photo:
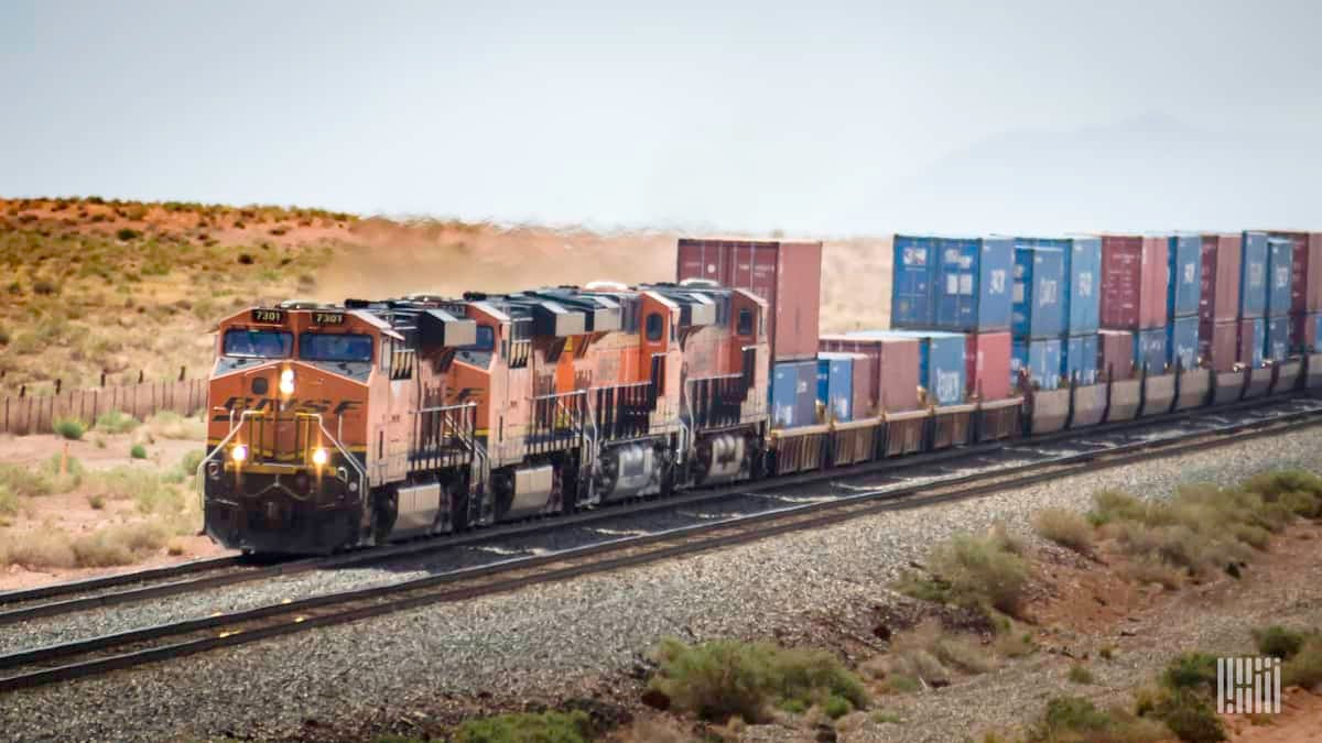
M 0 390 L 190 377 L 227 312 L 288 297 L 668 280 L 662 231 L 391 221 L 317 209 L 0 198 Z M 878 327 L 890 238 L 828 242 L 825 331 Z

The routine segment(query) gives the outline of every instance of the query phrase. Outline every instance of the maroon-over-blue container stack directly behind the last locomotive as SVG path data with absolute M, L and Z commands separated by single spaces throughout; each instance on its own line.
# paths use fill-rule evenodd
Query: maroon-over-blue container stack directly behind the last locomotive
M 677 280 L 707 279 L 767 300 L 771 407 L 781 427 L 816 423 L 821 276 L 821 242 L 680 239 Z

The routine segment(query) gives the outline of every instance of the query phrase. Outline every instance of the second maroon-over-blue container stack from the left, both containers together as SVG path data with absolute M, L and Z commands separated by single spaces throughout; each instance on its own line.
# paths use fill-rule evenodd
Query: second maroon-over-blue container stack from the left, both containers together
M 1101 235 L 1101 327 L 1128 331 L 1134 362 L 1150 374 L 1167 364 L 1169 274 L 1169 237 Z

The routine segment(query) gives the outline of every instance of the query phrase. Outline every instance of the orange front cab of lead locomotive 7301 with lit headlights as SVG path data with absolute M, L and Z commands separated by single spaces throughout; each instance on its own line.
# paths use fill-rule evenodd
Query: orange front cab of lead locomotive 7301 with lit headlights
M 200 467 L 208 534 L 260 553 L 327 553 L 368 520 L 368 401 L 402 336 L 337 307 L 221 321 Z

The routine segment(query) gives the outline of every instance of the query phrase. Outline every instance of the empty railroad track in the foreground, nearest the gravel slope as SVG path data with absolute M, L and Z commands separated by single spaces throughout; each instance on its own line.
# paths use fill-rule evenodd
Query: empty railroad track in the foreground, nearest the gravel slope
M 178 658 L 217 648 L 346 621 L 453 603 L 526 586 L 619 570 L 666 558 L 817 529 L 861 516 L 925 508 L 1150 459 L 1224 447 L 1322 423 L 1322 406 L 1083 451 L 993 473 L 980 472 L 900 489 L 875 489 L 763 513 L 608 539 L 551 554 L 453 570 L 389 586 L 327 594 L 0 656 L 0 691 L 33 687 Z

